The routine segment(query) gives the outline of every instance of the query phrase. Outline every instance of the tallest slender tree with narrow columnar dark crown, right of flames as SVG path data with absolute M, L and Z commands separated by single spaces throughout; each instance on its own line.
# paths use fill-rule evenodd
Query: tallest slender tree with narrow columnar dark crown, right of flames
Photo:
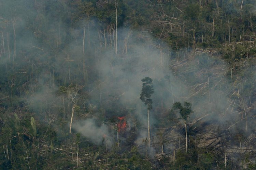
M 153 101 L 150 99 L 151 95 L 154 93 L 152 79 L 149 77 L 145 77 L 141 80 L 142 89 L 140 94 L 140 100 L 147 105 L 147 125 L 148 125 L 148 147 L 150 147 L 150 124 L 149 124 L 149 111 L 153 108 Z

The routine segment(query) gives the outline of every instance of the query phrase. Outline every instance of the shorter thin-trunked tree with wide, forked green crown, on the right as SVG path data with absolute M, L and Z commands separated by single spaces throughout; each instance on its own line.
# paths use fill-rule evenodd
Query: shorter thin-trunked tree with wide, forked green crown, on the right
M 184 120 L 185 132 L 186 132 L 186 153 L 187 153 L 187 125 L 186 125 L 186 120 L 189 117 L 189 115 L 191 113 L 193 113 L 193 111 L 191 109 L 191 105 L 192 104 L 189 103 L 189 102 L 184 102 L 184 107 L 182 106 L 181 102 L 175 102 L 172 105 L 172 111 L 174 111 L 175 109 L 179 109 L 181 117 Z

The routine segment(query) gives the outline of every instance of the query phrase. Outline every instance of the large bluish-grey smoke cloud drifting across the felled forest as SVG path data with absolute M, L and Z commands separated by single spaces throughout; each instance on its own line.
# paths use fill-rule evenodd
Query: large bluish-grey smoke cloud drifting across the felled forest
M 149 33 L 129 28 L 118 28 L 118 42 L 115 42 L 115 34 L 100 32 L 96 20 L 76 22 L 75 26 L 72 25 L 75 29 L 71 29 L 71 15 L 65 13 L 65 9 L 56 10 L 58 5 L 62 5 L 57 1 L 53 2 L 56 5 L 51 6 L 52 10 L 49 10 L 49 4 L 44 8 L 40 3 L 34 4 L 36 7 L 31 6 L 34 1 L 20 3 L 25 6 L 20 7 L 23 15 L 16 18 L 14 24 L 16 49 L 11 22 L 15 17 L 6 15 L 10 11 L 1 12 L 2 17 L 9 20 L 4 25 L 6 29 L 1 30 L 5 42 L 5 53 L 0 58 L 2 74 L 16 74 L 14 94 L 31 111 L 42 113 L 55 108 L 56 112 L 66 116 L 67 122 L 71 117 L 69 99 L 58 95 L 58 87 L 70 84 L 84 86 L 82 97 L 77 98 L 77 105 L 83 109 L 75 113 L 72 129 L 91 142 L 113 145 L 116 141 L 114 118 L 129 116 L 125 110 L 129 109 L 129 114 L 136 118 L 129 119 L 129 127 L 136 125 L 138 128 L 135 143 L 145 145 L 147 107 L 139 99 L 141 79 L 145 77 L 153 79 L 155 91 L 152 95 L 153 110 L 150 112 L 152 134 L 158 131 L 157 126 L 161 124 L 159 117 L 168 114 L 174 102 L 192 103 L 194 113 L 188 123 L 206 116 L 201 121 L 230 126 L 240 116 L 237 112 L 239 99 L 235 99 L 238 89 L 234 91 L 232 88 L 229 63 L 221 60 L 218 52 L 185 47 L 173 47 L 171 50 Z M 47 12 L 43 13 L 43 10 Z M 68 17 L 62 20 L 61 16 Z M 3 43 L 1 49 L 3 51 Z M 255 73 L 255 68 L 248 71 Z M 83 96 L 85 93 L 86 97 Z M 102 119 L 111 123 L 103 125 L 99 110 L 103 110 Z M 88 117 L 83 117 L 83 113 L 88 113 Z M 95 121 L 97 118 L 93 117 L 99 120 Z M 171 143 L 166 145 L 173 147 Z M 153 147 L 148 151 L 152 155 L 155 152 Z

